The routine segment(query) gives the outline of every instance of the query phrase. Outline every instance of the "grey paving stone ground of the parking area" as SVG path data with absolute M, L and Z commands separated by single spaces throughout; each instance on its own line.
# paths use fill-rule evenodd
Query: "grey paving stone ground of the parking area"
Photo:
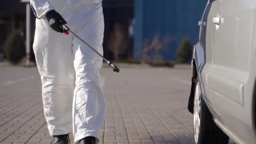
M 189 65 L 101 70 L 107 104 L 100 144 L 193 144 Z M 35 67 L 0 65 L 0 144 L 50 144 Z M 73 143 L 72 143 L 73 144 Z

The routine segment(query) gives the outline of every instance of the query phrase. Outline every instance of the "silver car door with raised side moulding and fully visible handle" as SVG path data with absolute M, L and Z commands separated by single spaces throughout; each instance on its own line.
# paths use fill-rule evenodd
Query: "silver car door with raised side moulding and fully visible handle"
M 246 139 L 244 85 L 248 80 L 253 8 L 252 0 L 216 0 L 218 11 L 208 17 L 212 22 L 212 64 L 207 81 L 212 106 L 220 125 Z

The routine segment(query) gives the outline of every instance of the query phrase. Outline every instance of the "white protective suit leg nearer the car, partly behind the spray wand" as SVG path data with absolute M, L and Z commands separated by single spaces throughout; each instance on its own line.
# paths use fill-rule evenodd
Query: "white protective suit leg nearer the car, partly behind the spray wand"
M 85 16 L 76 34 L 103 54 L 104 18 L 101 5 Z M 99 139 L 104 121 L 105 101 L 100 86 L 102 59 L 74 37 L 72 41 L 75 68 L 73 99 L 73 132 L 75 143 L 86 136 Z

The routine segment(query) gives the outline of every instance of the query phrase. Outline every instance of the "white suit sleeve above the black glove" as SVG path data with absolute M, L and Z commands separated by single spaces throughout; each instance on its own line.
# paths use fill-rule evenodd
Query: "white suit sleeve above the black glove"
M 46 19 L 46 13 L 54 9 L 49 0 L 30 0 L 30 4 L 36 17 L 40 19 Z

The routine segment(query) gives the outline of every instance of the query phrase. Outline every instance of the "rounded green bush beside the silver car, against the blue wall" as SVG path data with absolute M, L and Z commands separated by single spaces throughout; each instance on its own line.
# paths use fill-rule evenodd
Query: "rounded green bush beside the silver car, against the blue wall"
M 185 38 L 182 40 L 178 51 L 176 52 L 176 57 L 179 63 L 188 63 L 192 59 L 193 47 L 189 43 L 189 39 Z

